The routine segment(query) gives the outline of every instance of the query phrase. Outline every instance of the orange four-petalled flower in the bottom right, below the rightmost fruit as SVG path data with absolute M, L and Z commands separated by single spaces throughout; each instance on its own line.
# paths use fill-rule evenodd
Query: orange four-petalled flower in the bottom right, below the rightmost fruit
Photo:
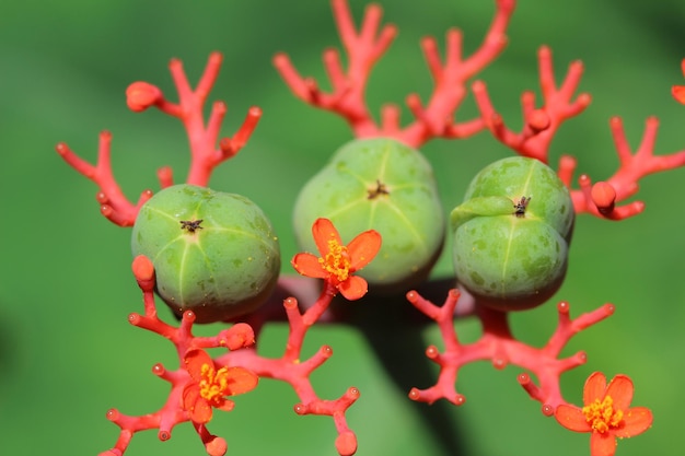
M 571 431 L 592 432 L 592 456 L 612 456 L 616 452 L 616 437 L 631 437 L 652 425 L 650 409 L 629 408 L 632 389 L 632 381 L 627 375 L 616 375 L 606 386 L 604 374 L 595 372 L 583 388 L 584 407 L 562 404 L 557 407 L 555 417 Z

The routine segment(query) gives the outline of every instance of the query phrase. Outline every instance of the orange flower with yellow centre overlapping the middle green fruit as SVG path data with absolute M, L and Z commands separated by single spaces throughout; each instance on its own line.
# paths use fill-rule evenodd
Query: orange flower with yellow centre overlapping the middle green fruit
M 298 254 L 292 266 L 302 276 L 324 279 L 350 300 L 359 300 L 368 291 L 364 279 L 352 276 L 375 257 L 381 248 L 381 235 L 369 230 L 355 237 L 347 246 L 328 219 L 317 219 L 312 226 L 314 242 L 321 257 Z

